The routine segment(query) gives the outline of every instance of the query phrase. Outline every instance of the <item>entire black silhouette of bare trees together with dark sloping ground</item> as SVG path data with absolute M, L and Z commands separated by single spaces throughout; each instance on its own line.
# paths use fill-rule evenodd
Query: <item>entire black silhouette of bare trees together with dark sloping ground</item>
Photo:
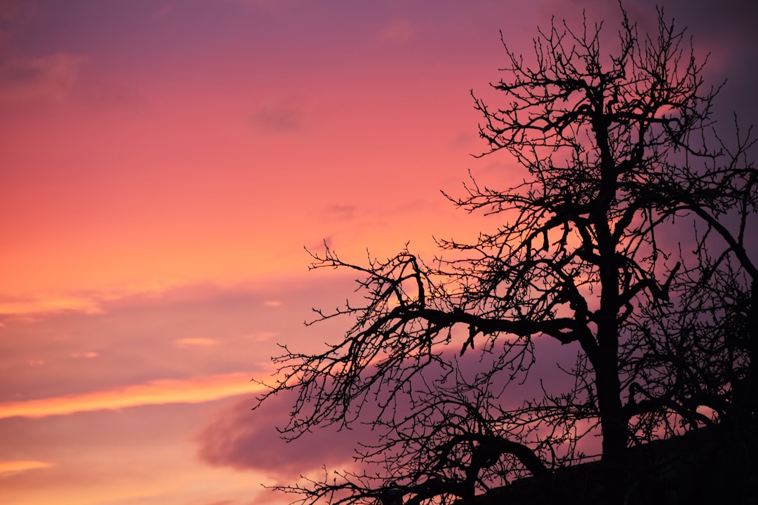
M 736 118 L 731 140 L 716 131 L 719 86 L 662 11 L 650 35 L 623 8 L 617 34 L 601 29 L 553 22 L 531 60 L 506 45 L 499 101 L 472 93 L 481 155 L 504 151 L 522 182 L 471 177 L 446 196 L 499 227 L 440 240 L 427 262 L 312 254 L 359 274 L 362 298 L 316 311 L 352 326 L 315 354 L 283 345 L 259 401 L 294 394 L 283 438 L 356 423 L 376 438 L 355 469 L 280 490 L 305 504 L 758 502 L 754 140 Z

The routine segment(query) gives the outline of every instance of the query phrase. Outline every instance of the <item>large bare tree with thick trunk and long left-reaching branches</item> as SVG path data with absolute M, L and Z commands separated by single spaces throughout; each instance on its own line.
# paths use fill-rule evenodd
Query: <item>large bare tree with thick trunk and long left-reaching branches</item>
M 489 146 L 482 155 L 508 155 L 523 182 L 494 189 L 471 178 L 462 197 L 447 196 L 502 226 L 471 244 L 440 241 L 428 263 L 407 249 L 364 265 L 329 248 L 312 254 L 313 268 L 359 274 L 362 298 L 316 311 L 315 322 L 343 317 L 352 326 L 320 353 L 283 346 L 276 382 L 259 400 L 294 392 L 285 438 L 356 422 L 377 438 L 356 448 L 359 470 L 284 491 L 303 503 L 452 503 L 526 475 L 550 482 L 582 456 L 587 435 L 602 435 L 603 465 L 615 468 L 672 414 L 710 421 L 676 388 L 705 381 L 723 397 L 731 379 L 666 382 L 678 366 L 666 349 L 687 338 L 684 325 L 646 332 L 643 322 L 672 320 L 656 307 L 694 310 L 688 296 L 714 299 L 715 291 L 681 292 L 697 269 L 682 267 L 658 233 L 694 215 L 720 233 L 722 213 L 754 196 L 755 171 L 741 164 L 751 142 L 737 152 L 706 148 L 718 88 L 704 85 L 704 61 L 662 11 L 652 36 L 621 14 L 609 50 L 602 25 L 586 20 L 540 30 L 533 61 L 506 45 L 505 77 L 492 85 L 503 100 L 493 107 L 472 93 Z M 732 184 L 734 198 L 716 198 L 738 173 L 750 174 L 747 193 Z M 744 269 L 744 226 L 722 235 Z M 571 357 L 559 363 L 570 380 L 534 391 L 529 373 L 550 341 Z M 518 392 L 523 401 L 513 400 Z

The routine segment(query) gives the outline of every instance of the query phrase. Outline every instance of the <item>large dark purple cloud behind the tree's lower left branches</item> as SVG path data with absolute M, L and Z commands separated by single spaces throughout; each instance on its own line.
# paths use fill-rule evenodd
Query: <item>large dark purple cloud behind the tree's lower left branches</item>
M 543 387 L 559 392 L 573 384 L 567 383 L 565 374 L 556 369 L 556 363 L 568 366 L 574 362 L 575 354 L 553 339 L 537 338 L 534 343 L 540 349 L 532 375 L 522 384 L 518 380 L 525 377 L 518 377 L 518 380 L 508 386 L 508 396 L 504 397 L 501 405 L 503 408 L 515 408 L 524 399 L 542 397 Z M 469 380 L 475 373 L 488 370 L 498 363 L 496 354 L 487 351 L 469 351 L 463 357 L 458 357 L 456 351 L 453 348 L 446 350 L 448 359 L 456 360 L 459 373 Z M 505 369 L 491 376 L 492 390 L 497 391 L 503 387 L 510 373 Z M 444 385 L 446 380 L 456 380 L 451 376 L 441 379 L 443 376 L 443 369 L 429 366 L 424 370 L 423 378 L 417 376 L 412 379 L 411 389 L 434 394 L 434 391 L 428 390 L 428 384 L 434 383 L 434 387 L 437 387 Z M 440 377 L 441 382 L 437 382 L 435 377 Z M 371 431 L 371 426 L 367 425 L 381 415 L 377 402 L 371 401 L 363 405 L 359 419 L 352 422 L 351 429 L 324 426 L 305 433 L 294 441 L 281 440 L 276 428 L 287 425 L 295 404 L 294 395 L 295 391 L 284 391 L 275 397 L 269 397 L 252 412 L 250 409 L 255 404 L 255 398 L 244 397 L 222 410 L 197 435 L 200 459 L 211 466 L 229 466 L 237 470 L 262 472 L 278 479 L 293 479 L 298 475 L 318 472 L 324 466 L 327 469 L 350 469 L 357 464 L 353 459 L 356 456 L 355 450 L 360 449 L 361 444 L 375 444 L 379 440 L 380 429 Z M 307 404 L 303 407 L 308 408 Z M 396 415 L 402 418 L 409 415 L 411 406 L 401 396 L 396 398 L 394 408 Z M 299 415 L 304 415 L 304 410 L 300 410 Z

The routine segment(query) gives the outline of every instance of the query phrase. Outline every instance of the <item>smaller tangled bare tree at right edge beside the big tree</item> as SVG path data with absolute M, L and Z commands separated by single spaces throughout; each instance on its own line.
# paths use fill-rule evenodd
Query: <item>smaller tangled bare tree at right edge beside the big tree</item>
M 694 156 L 685 142 L 689 170 L 658 188 L 660 198 L 678 202 L 669 215 L 694 217 L 695 233 L 689 267 L 673 288 L 675 302 L 642 308 L 634 329 L 640 339 L 631 339 L 634 350 L 628 350 L 626 361 L 647 383 L 633 407 L 648 417 L 647 429 L 673 412 L 691 425 L 719 419 L 756 427 L 758 267 L 749 231 L 758 211 L 758 170 L 747 157 L 755 142 L 750 132 L 741 136 L 737 129 L 735 137 L 728 148 L 715 131 L 709 142 L 703 135 Z M 653 404 L 668 408 L 651 411 Z M 697 407 L 707 407 L 713 419 Z M 651 415 L 658 421 L 650 422 Z

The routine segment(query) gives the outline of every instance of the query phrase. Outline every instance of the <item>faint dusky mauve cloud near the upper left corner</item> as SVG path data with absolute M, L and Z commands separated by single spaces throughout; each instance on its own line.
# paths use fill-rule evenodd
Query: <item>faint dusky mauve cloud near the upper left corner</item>
M 86 56 L 62 51 L 5 61 L 0 64 L 0 101 L 60 100 L 77 82 L 86 61 Z

